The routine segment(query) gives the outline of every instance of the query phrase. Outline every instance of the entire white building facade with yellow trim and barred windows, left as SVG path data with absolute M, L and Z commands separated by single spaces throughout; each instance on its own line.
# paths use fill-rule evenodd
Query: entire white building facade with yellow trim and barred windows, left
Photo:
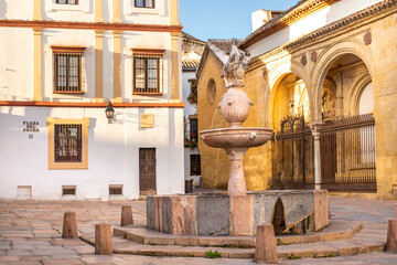
M 25 3 L 0 4 L 0 198 L 183 192 L 179 0 Z

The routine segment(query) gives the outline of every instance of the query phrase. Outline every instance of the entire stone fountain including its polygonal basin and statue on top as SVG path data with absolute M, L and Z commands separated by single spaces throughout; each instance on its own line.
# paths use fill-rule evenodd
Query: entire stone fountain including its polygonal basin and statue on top
M 230 159 L 227 194 L 176 194 L 147 198 L 147 226 L 168 234 L 253 236 L 260 223 L 272 223 L 279 234 L 320 231 L 329 224 L 329 197 L 323 190 L 248 192 L 243 158 L 265 145 L 272 130 L 245 128 L 253 102 L 244 88 L 246 56 L 236 43 L 224 64 L 227 93 L 219 108 L 230 128 L 201 131 L 204 144 L 223 148 Z

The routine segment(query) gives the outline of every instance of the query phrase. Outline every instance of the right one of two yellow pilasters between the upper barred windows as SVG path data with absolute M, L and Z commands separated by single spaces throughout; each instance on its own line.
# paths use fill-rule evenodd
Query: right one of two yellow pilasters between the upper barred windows
M 121 31 L 114 31 L 114 99 L 122 102 L 121 96 Z

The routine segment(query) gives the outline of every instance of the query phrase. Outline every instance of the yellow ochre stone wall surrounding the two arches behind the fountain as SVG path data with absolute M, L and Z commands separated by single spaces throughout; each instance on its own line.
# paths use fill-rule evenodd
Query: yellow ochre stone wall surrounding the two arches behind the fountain
M 288 51 L 270 55 L 262 62 L 250 65 L 245 74 L 245 92 L 254 102 L 254 107 L 243 127 L 270 127 L 272 108 L 278 108 L 277 100 L 285 98 L 281 94 L 272 94 L 280 85 L 277 80 L 282 75 L 279 68 L 287 68 L 290 73 L 301 73 L 301 77 L 309 93 L 310 116 L 312 123 L 321 123 L 321 92 L 328 67 L 340 56 L 354 54 L 368 68 L 373 82 L 374 118 L 376 132 L 376 193 L 343 193 L 333 194 L 364 197 L 369 199 L 397 199 L 397 9 L 375 14 L 353 25 L 341 28 L 301 45 L 292 46 Z M 371 32 L 372 42 L 365 44 L 364 35 Z M 315 63 L 310 62 L 310 54 L 316 51 Z M 309 63 L 302 65 L 302 54 L 308 55 Z M 282 66 L 285 65 L 285 67 Z M 265 68 L 268 80 L 264 77 Z M 222 95 L 226 92 L 222 80 L 222 63 L 210 51 L 203 71 L 198 78 L 198 129 L 210 129 L 215 109 Z M 207 83 L 214 78 L 216 83 L 216 98 L 210 105 L 207 100 Z M 321 84 L 320 84 L 321 83 Z M 270 88 L 269 85 L 272 85 Z M 320 100 L 319 100 L 320 99 Z M 348 96 L 346 102 L 351 102 Z M 276 104 L 276 105 L 275 105 Z M 282 104 L 281 104 L 282 105 Z M 345 106 L 346 108 L 348 106 Z M 347 110 L 347 109 L 346 109 Z M 276 114 L 277 115 L 277 114 Z M 270 121 L 268 121 L 270 120 Z M 270 125 L 268 125 L 270 123 Z M 228 127 L 217 110 L 213 128 Z M 277 126 L 276 126 L 277 127 Z M 229 161 L 224 150 L 217 150 L 200 142 L 202 153 L 202 177 L 207 188 L 227 188 Z M 219 155 L 218 155 L 219 152 Z M 248 190 L 266 190 L 271 187 L 271 144 L 253 148 L 244 159 L 244 169 Z

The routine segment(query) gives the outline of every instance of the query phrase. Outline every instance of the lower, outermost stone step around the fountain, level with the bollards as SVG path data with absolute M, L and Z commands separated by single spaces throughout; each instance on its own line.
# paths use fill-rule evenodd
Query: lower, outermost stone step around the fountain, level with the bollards
M 382 239 L 372 239 L 368 241 L 354 236 L 345 241 L 329 241 L 307 244 L 291 244 L 277 246 L 278 257 L 282 259 L 302 258 L 302 257 L 334 257 L 357 255 L 368 252 L 379 252 L 385 248 Z M 82 240 L 94 244 L 95 236 L 82 235 Z M 254 258 L 255 248 L 232 248 L 217 246 L 185 246 L 179 245 L 150 245 L 139 244 L 120 236 L 114 236 L 114 253 L 128 255 L 146 256 L 181 256 L 181 257 L 205 257 L 206 253 L 218 252 L 221 257 L 225 258 Z

